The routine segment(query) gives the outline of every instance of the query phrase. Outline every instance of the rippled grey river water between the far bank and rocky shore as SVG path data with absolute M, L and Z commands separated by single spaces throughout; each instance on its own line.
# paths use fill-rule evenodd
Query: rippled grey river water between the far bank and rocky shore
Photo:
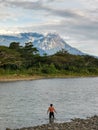
M 49 123 L 51 103 L 57 110 L 54 122 L 98 114 L 98 78 L 0 83 L 0 130 Z

